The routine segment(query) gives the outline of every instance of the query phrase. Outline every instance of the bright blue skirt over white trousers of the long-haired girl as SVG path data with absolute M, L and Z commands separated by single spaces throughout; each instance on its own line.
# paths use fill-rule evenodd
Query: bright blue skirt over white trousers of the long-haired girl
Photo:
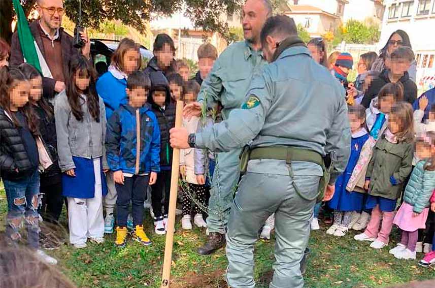
M 106 176 L 103 172 L 101 158 L 99 158 L 101 184 L 103 196 L 107 195 Z M 95 171 L 93 161 L 94 159 L 87 159 L 82 157 L 73 156 L 74 165 L 76 169 L 76 177 L 68 176 L 62 173 L 62 195 L 64 197 L 90 199 L 95 195 Z

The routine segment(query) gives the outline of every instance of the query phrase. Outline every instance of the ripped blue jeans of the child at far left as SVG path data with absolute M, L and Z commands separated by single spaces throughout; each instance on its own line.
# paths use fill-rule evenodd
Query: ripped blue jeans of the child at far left
M 27 229 L 27 244 L 32 249 L 39 248 L 39 172 L 19 181 L 3 179 L 8 199 L 6 235 L 13 241 L 21 238 L 23 220 Z

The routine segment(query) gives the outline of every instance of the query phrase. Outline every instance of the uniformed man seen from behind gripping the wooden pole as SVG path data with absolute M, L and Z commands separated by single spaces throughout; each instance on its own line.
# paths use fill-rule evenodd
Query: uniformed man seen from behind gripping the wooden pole
M 269 65 L 254 77 L 241 109 L 202 133 L 171 131 L 175 148 L 228 151 L 250 140 L 247 171 L 231 207 L 226 233 L 227 282 L 253 288 L 254 243 L 275 213 L 275 273 L 271 288 L 300 288 L 299 263 L 310 235 L 324 156 L 333 166 L 325 200 L 346 167 L 351 133 L 345 91 L 318 65 L 287 16 L 266 20 L 261 43 Z

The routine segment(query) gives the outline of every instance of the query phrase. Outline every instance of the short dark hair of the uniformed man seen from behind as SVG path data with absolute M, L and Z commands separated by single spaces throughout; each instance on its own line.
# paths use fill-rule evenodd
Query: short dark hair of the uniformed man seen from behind
M 266 37 L 280 35 L 281 37 L 297 36 L 297 27 L 293 18 L 277 15 L 267 18 L 260 33 L 261 44 L 266 43 Z

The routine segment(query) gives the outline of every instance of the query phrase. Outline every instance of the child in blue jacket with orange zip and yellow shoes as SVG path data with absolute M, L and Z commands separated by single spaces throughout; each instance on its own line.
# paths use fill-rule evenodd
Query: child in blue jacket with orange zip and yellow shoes
M 118 194 L 115 240 L 118 247 L 126 243 L 130 201 L 135 228 L 132 238 L 144 245 L 151 244 L 144 232 L 143 207 L 147 187 L 156 182 L 160 172 L 160 129 L 146 104 L 150 86 L 148 75 L 140 71 L 130 74 L 128 104 L 121 104 L 107 123 L 106 153 Z

